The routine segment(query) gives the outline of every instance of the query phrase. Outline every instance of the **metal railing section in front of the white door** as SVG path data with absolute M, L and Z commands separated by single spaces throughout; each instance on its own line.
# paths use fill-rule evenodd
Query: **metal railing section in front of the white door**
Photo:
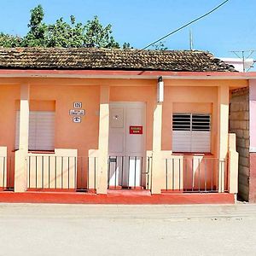
M 108 189 L 150 189 L 152 157 L 109 156 Z

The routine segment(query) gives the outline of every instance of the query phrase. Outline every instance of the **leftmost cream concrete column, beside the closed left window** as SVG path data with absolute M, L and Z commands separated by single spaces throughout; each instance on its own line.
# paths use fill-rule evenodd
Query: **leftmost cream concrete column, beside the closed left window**
M 29 84 L 20 85 L 20 140 L 15 152 L 15 192 L 24 192 L 26 184 L 26 155 L 28 153 Z

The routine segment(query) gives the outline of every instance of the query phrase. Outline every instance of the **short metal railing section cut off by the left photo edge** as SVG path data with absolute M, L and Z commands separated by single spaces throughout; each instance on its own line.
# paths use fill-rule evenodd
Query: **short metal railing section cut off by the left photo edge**
M 0 156 L 0 189 L 13 190 L 15 160 L 12 156 Z

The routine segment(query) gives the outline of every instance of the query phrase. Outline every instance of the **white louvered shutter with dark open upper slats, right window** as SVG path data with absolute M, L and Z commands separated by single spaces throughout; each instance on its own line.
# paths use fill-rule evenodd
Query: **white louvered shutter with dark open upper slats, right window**
M 172 151 L 209 153 L 211 151 L 210 114 L 173 114 Z

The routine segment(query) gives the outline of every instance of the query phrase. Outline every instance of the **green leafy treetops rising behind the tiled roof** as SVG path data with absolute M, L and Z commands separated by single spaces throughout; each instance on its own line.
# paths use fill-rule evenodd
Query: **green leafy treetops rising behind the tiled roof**
M 112 26 L 103 26 L 97 16 L 85 24 L 77 22 L 71 15 L 69 22 L 62 17 L 53 24 L 44 23 L 44 9 L 38 5 L 31 10 L 29 31 L 24 37 L 0 33 L 3 47 L 98 47 L 120 48 L 112 35 Z M 129 43 L 124 49 L 131 49 Z

